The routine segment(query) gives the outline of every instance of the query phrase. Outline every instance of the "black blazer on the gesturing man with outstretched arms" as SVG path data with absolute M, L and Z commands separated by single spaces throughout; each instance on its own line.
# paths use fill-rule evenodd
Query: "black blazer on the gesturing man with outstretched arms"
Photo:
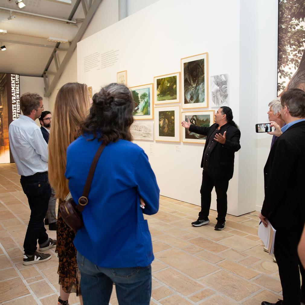
M 205 156 L 208 139 L 217 127 L 218 124 L 215 123 L 210 127 L 200 127 L 192 124 L 189 128 L 191 132 L 206 135 L 206 145 L 203 149 L 201 167 L 203 167 L 203 158 Z M 230 180 L 233 177 L 234 153 L 240 149 L 240 131 L 238 128 L 227 123 L 221 126 L 217 133 L 223 135 L 225 131 L 227 131 L 226 142 L 224 145 L 217 143 L 210 154 L 210 175 L 213 179 Z

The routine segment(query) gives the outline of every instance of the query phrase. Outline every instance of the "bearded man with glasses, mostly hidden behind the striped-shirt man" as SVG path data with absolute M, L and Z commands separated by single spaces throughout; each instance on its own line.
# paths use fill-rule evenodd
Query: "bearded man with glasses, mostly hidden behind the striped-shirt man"
M 52 114 L 50 111 L 42 111 L 41 116 L 39 118 L 40 122 L 40 129 L 41 133 L 43 135 L 43 138 L 45 139 L 45 142 L 49 142 L 49 136 L 50 136 L 50 129 L 51 129 L 51 121 L 52 121 Z M 56 198 L 55 198 L 55 191 L 53 188 L 52 195 L 49 200 L 49 207 L 48 212 L 45 215 L 45 225 L 49 225 L 50 231 L 56 231 L 57 229 L 57 219 L 56 219 Z

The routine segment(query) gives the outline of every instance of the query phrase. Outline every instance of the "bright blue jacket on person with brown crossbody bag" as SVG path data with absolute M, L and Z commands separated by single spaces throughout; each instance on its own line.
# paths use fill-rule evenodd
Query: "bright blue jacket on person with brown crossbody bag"
M 67 149 L 66 178 L 76 203 L 100 144 L 80 136 Z M 74 246 L 100 267 L 148 266 L 154 256 L 143 213 L 155 214 L 158 209 L 159 188 L 143 149 L 125 140 L 110 143 L 97 163 L 82 213 L 84 227 L 77 231 Z

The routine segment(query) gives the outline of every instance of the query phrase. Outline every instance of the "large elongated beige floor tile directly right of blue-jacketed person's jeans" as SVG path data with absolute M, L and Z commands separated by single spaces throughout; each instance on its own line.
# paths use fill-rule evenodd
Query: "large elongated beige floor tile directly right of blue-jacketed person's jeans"
M 154 277 L 184 296 L 204 288 L 203 285 L 171 268 L 156 272 Z

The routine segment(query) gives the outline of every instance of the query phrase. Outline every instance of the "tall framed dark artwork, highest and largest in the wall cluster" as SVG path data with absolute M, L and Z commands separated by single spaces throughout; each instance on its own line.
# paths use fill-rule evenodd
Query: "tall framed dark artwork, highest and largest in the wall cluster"
M 182 108 L 208 107 L 208 88 L 208 53 L 181 58 Z

